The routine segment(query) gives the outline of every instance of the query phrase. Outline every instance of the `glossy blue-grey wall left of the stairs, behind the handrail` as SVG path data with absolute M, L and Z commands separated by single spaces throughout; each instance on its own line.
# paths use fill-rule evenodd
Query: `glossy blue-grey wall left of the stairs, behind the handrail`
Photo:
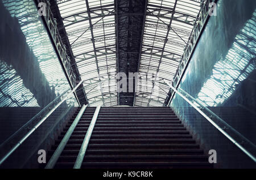
M 71 91 L 71 85 L 34 1 L 0 1 L 0 27 L 2 158 Z M 62 94 L 64 96 L 49 105 Z M 77 106 L 72 94 L 7 158 L 1 168 L 38 167 L 38 149 L 46 149 L 53 142 L 54 132 L 61 130 Z

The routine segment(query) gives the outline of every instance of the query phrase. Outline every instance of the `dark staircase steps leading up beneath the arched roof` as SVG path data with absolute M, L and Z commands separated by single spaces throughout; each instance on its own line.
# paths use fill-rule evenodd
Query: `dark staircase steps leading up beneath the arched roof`
M 59 145 L 79 109 L 48 152 Z M 96 108 L 86 108 L 55 168 L 73 168 Z M 102 107 L 81 168 L 212 168 L 170 108 Z

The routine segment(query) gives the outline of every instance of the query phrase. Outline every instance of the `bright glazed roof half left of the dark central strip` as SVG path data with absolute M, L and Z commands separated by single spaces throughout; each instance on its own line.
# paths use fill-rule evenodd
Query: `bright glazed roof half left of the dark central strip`
M 113 79 L 117 71 L 114 1 L 75 0 L 57 4 L 89 105 L 117 105 L 117 83 Z

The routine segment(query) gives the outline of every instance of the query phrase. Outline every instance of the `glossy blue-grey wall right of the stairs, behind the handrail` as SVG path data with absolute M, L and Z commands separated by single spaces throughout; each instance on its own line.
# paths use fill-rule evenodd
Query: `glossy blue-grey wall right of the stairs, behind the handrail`
M 224 122 L 212 119 L 255 156 L 256 2 L 232 3 L 233 6 L 228 1 L 217 2 L 217 15 L 210 16 L 176 88 L 179 92 L 183 89 L 221 118 Z M 216 149 L 220 166 L 255 167 L 251 158 L 227 141 L 179 95 L 172 96 L 170 106 L 205 147 Z

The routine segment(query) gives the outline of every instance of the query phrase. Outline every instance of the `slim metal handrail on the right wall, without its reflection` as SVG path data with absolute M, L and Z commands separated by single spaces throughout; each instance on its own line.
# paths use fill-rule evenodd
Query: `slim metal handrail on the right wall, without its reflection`
M 220 126 L 218 126 L 214 121 L 212 121 L 212 119 L 210 119 L 208 117 L 207 114 L 205 114 L 201 109 L 199 109 L 195 104 L 193 104 L 193 102 L 189 101 L 187 97 L 185 97 L 184 95 L 182 95 L 179 91 L 177 91 L 176 88 L 174 88 L 170 83 L 167 82 L 167 80 L 164 80 L 164 82 L 166 82 L 167 85 L 169 85 L 169 87 L 175 91 L 178 95 L 180 95 L 185 101 L 188 102 L 188 104 L 190 104 L 193 108 L 195 108 L 197 110 L 197 112 L 199 112 L 201 115 L 203 115 L 203 117 L 205 119 L 207 119 L 214 127 L 217 128 L 217 130 L 219 130 L 223 135 L 226 136 L 226 138 L 228 138 L 232 143 L 234 143 L 238 148 L 240 148 L 247 156 L 249 156 L 254 162 L 256 162 L 256 157 L 254 155 L 252 155 L 249 151 L 247 151 L 247 149 L 243 148 L 242 145 L 240 143 L 238 143 L 236 140 L 234 140 L 232 138 L 232 136 L 230 136 L 226 131 L 224 131 Z M 185 92 L 184 90 L 182 90 L 183 92 Z M 188 95 L 188 93 L 186 92 L 186 94 Z M 189 95 L 190 96 L 190 95 Z M 192 97 L 192 96 L 190 96 Z M 194 100 L 195 98 L 193 98 Z M 196 101 L 196 100 L 195 100 Z M 197 101 L 196 101 L 197 103 Z M 199 104 L 199 103 L 197 103 Z M 199 104 L 200 105 L 200 104 Z M 202 106 L 203 108 L 206 108 L 205 106 Z M 209 109 L 208 109 L 209 110 Z M 210 111 L 210 110 L 209 110 Z M 211 112 L 211 111 L 210 111 Z M 212 112 L 213 113 L 213 112 Z M 213 113 L 214 114 L 214 113 Z M 216 114 L 215 114 L 216 115 Z M 217 115 L 216 115 L 217 116 Z M 218 117 L 218 116 L 217 116 Z M 221 119 L 221 118 L 220 118 Z M 223 120 L 222 120 L 223 121 Z M 231 126 L 230 126 L 231 127 Z M 236 131 L 236 130 L 235 130 Z M 243 137 L 243 136 L 242 136 Z M 249 141 L 250 142 L 250 141 Z

